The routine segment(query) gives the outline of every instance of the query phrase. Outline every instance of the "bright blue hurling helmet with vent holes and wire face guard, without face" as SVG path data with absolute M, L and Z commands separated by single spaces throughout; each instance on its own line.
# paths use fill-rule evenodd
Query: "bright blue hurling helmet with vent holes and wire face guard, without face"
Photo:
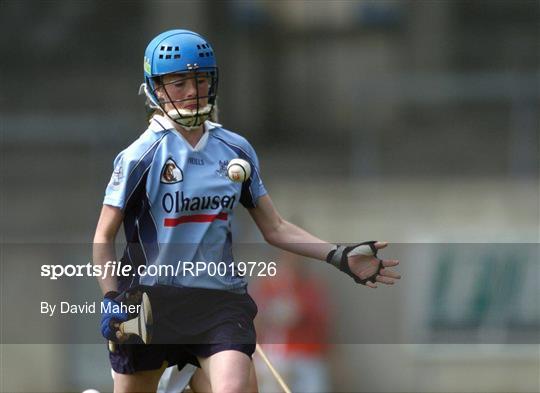
M 189 73 L 194 78 L 208 78 L 208 92 L 197 92 L 197 108 L 195 110 L 181 109 L 179 101 L 161 100 L 156 95 L 156 89 L 163 86 L 162 78 L 168 74 Z M 202 76 L 201 76 L 202 75 Z M 218 67 L 214 50 L 199 34 L 189 30 L 169 30 L 155 37 L 144 53 L 144 85 L 150 104 L 161 109 L 173 121 L 189 129 L 201 125 L 210 117 L 216 104 L 218 87 Z M 199 95 L 201 94 L 201 95 Z M 199 101 L 207 99 L 208 104 L 199 108 Z M 173 110 L 165 110 L 165 104 L 172 104 Z

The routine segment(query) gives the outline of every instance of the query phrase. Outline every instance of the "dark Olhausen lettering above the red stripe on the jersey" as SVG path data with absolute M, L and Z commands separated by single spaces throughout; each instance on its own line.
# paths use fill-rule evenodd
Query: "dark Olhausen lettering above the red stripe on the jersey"
M 232 210 L 235 195 L 207 195 L 202 197 L 187 198 L 184 192 L 167 192 L 163 195 L 161 206 L 167 213 L 180 213 L 197 210 L 213 210 L 219 207 Z

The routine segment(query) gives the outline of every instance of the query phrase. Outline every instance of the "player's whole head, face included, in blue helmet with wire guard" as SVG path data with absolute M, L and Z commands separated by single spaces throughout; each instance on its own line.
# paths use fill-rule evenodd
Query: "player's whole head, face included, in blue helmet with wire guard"
M 190 130 L 210 118 L 217 101 L 218 68 L 210 44 L 197 33 L 171 30 L 146 48 L 143 91 L 153 108 Z M 193 94 L 179 98 L 189 86 Z

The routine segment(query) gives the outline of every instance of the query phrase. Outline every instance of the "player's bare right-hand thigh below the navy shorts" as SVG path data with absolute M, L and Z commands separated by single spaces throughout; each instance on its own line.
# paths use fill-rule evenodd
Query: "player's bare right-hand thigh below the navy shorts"
M 212 393 L 257 392 L 257 379 L 251 358 L 243 352 L 221 351 L 198 358 Z

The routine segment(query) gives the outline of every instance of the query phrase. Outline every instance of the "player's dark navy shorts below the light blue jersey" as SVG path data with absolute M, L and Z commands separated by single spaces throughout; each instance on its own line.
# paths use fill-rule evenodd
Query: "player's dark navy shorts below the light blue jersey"
M 113 370 L 120 374 L 161 368 L 164 361 L 179 369 L 187 363 L 197 367 L 197 357 L 237 350 L 249 357 L 255 352 L 253 319 L 257 305 L 247 293 L 139 286 L 146 292 L 154 318 L 151 344 L 138 338 L 116 345 L 109 352 Z

